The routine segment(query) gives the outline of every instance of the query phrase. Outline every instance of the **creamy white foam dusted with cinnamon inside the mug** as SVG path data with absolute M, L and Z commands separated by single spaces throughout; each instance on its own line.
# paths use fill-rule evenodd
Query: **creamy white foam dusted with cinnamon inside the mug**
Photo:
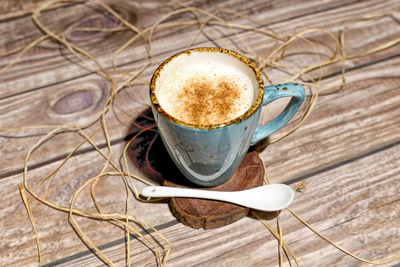
M 165 112 L 185 123 L 213 125 L 244 114 L 258 83 L 239 59 L 215 52 L 181 54 L 164 65 L 155 94 Z

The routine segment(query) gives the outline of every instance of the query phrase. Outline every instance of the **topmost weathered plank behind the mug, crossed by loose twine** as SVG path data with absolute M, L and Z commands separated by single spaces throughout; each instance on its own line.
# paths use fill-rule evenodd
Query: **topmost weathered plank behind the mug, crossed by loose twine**
M 132 6 L 129 7 L 125 5 L 121 7 L 121 3 L 122 2 L 116 2 L 112 5 L 112 7 L 117 11 L 121 11 L 122 15 L 127 13 L 125 15 L 126 19 L 134 23 L 139 28 L 145 28 L 153 25 L 159 19 L 159 14 L 166 14 L 176 9 L 176 5 L 171 6 L 171 4 L 161 4 L 161 6 L 159 6 L 156 4 L 157 2 L 150 2 L 147 5 L 141 3 L 138 6 L 135 6 L 135 4 L 131 3 Z M 214 12 L 216 8 L 225 7 L 228 10 L 235 10 L 235 12 L 242 12 L 246 16 L 251 16 L 251 19 L 255 21 L 255 24 L 269 25 L 279 21 L 290 20 L 293 17 L 297 18 L 305 14 L 315 14 L 318 11 L 325 11 L 328 8 L 334 8 L 335 6 L 345 6 L 348 3 L 351 3 L 351 1 L 342 2 L 339 4 L 333 1 L 330 3 L 325 3 L 322 6 L 318 1 L 307 2 L 307 5 L 301 5 L 300 7 L 297 6 L 296 12 L 287 11 L 287 7 L 289 6 L 294 8 L 294 5 L 290 4 L 290 2 L 279 2 L 279 4 L 274 3 L 274 8 L 271 7 L 271 4 L 264 1 L 251 1 L 246 3 L 246 5 L 240 4 L 237 1 L 215 3 L 213 5 L 209 5 L 207 2 L 201 2 L 201 4 L 197 4 L 195 6 L 204 8 L 210 12 Z M 189 2 L 187 4 L 194 3 Z M 368 4 L 366 6 L 370 8 L 371 5 Z M 161 7 L 162 9 L 160 9 Z M 363 10 L 363 4 L 360 4 L 359 8 L 360 14 L 363 14 L 362 12 L 365 13 L 365 10 Z M 376 8 L 382 10 L 388 9 L 386 4 L 383 6 L 377 6 Z M 116 24 L 115 20 L 109 16 L 104 16 L 104 14 L 99 15 L 99 13 L 94 12 L 92 9 L 90 9 L 90 11 L 92 13 L 88 14 L 89 11 L 87 8 L 84 9 L 80 6 L 71 6 L 67 10 L 63 9 L 59 11 L 55 10 L 54 12 L 48 12 L 44 14 L 42 20 L 45 25 L 50 24 L 52 27 L 55 27 L 54 24 L 56 24 L 58 25 L 58 28 L 64 29 L 68 27 L 72 29 L 85 26 L 101 26 L 108 28 L 120 26 Z M 182 17 L 185 18 L 187 16 L 187 14 L 183 14 L 174 19 L 180 20 Z M 231 23 L 248 24 L 247 20 L 238 18 L 235 15 L 223 15 L 222 17 Z M 60 20 L 60 23 L 55 23 L 55 19 L 57 19 L 57 21 Z M 8 42 L 0 45 L 0 47 L 6 48 L 4 52 L 16 49 L 18 47 L 23 48 L 41 36 L 39 30 L 32 25 L 32 22 L 29 18 L 24 18 L 21 21 L 16 20 L 15 24 L 12 26 L 4 25 L 3 29 L 1 26 L 2 25 L 0 24 L 0 34 L 4 34 L 6 37 L 3 40 L 16 40 L 19 42 L 19 44 L 15 44 L 15 42 Z M 9 36 L 9 27 L 15 28 L 17 32 L 12 32 L 12 35 Z M 289 29 L 293 30 L 294 28 L 290 27 Z M 185 26 L 156 32 L 155 36 L 152 38 L 154 41 L 152 46 L 153 54 L 158 55 L 160 53 L 171 52 L 171 50 L 175 51 L 185 48 L 188 44 L 187 38 L 182 39 L 177 38 L 177 36 L 182 34 L 194 36 L 197 31 L 198 27 Z M 223 35 L 224 33 L 219 33 L 217 36 Z M 85 35 L 77 32 L 74 34 L 74 36 L 71 36 L 70 39 L 74 44 L 87 49 L 90 53 L 96 56 L 99 62 L 105 65 L 105 67 L 110 67 L 113 52 L 131 36 L 132 35 L 127 32 L 112 34 L 95 32 L 91 34 L 86 33 Z M 197 46 L 201 43 L 204 45 L 205 41 L 207 41 L 207 38 L 200 36 L 199 40 L 194 45 Z M 2 51 L 2 53 L 4 52 Z M 118 64 L 128 64 L 137 60 L 142 60 L 146 55 L 146 48 L 143 45 L 143 42 L 139 40 L 118 57 Z M 13 55 L 4 58 L 3 64 L 8 63 L 10 60 L 12 60 L 12 58 Z M 72 63 L 68 61 L 72 61 Z M 76 59 L 71 56 L 67 49 L 58 44 L 46 42 L 25 55 L 24 60 L 20 61 L 13 68 L 2 74 L 0 80 L 2 89 L 0 98 L 15 95 L 21 92 L 27 92 L 35 88 L 41 88 L 51 84 L 60 83 L 61 81 L 80 77 L 88 72 L 90 71 L 84 71 L 82 69 L 80 63 L 77 64 Z

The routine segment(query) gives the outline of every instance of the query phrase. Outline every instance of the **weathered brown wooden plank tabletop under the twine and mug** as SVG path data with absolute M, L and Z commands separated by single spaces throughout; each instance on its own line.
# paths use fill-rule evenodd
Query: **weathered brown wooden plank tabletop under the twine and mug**
M 0 67 L 43 33 L 34 25 L 31 12 L 45 1 L 2 1 L 0 3 Z M 107 1 L 113 9 L 138 28 L 156 23 L 164 14 L 181 8 L 178 4 L 153 1 Z M 357 54 L 400 38 L 400 2 L 397 1 L 194 1 L 185 2 L 210 12 L 225 8 L 226 21 L 256 26 L 279 35 L 322 28 L 339 37 L 345 32 L 346 54 Z M 55 32 L 79 27 L 120 26 L 101 8 L 68 3 L 41 14 L 41 21 Z M 397 13 L 394 12 L 397 10 Z M 243 17 L 234 12 L 242 13 Z M 380 17 L 380 14 L 387 14 Z M 355 23 L 361 18 L 373 21 Z M 193 19 L 188 13 L 169 21 Z M 247 17 L 247 18 L 246 18 Z M 156 66 L 168 56 L 186 48 L 198 27 L 182 26 L 157 31 L 152 38 L 153 61 L 141 74 L 143 83 L 121 91 L 107 114 L 111 156 L 122 154 L 129 123 L 147 108 L 146 81 Z M 214 29 L 213 31 L 211 31 Z M 207 31 L 206 31 L 207 32 Z M 245 50 L 239 37 L 230 31 L 210 27 L 193 47 L 219 45 Z M 212 34 L 211 34 L 212 33 Z M 265 57 L 271 42 L 254 31 L 238 30 L 240 38 L 257 55 Z M 66 33 L 66 38 L 90 51 L 113 75 L 112 55 L 130 31 Z M 315 43 L 331 44 L 327 34 L 309 36 Z M 271 40 L 271 39 L 269 39 Z M 295 50 L 307 50 L 305 42 Z M 15 51 L 14 53 L 9 52 Z M 311 51 L 310 49 L 307 51 Z M 306 181 L 306 189 L 296 193 L 291 209 L 323 235 L 341 247 L 370 260 L 400 253 L 400 46 L 346 61 L 346 84 L 332 94 L 322 95 L 304 124 L 286 138 L 269 145 L 261 158 L 272 182 L 295 186 Z M 312 53 L 293 52 L 291 62 L 308 64 Z M 286 61 L 286 62 L 290 62 Z M 117 57 L 117 65 L 134 73 L 148 61 L 142 40 Z M 93 64 L 91 65 L 93 67 Z M 274 82 L 284 73 L 268 72 Z M 314 75 L 315 74 L 315 75 Z M 322 69 L 322 83 L 340 83 L 341 65 Z M 313 73 L 316 76 L 316 72 Z M 104 108 L 110 83 L 82 64 L 62 44 L 45 40 L 23 55 L 14 66 L 0 74 L 0 127 L 80 124 L 93 119 Z M 328 89 L 321 87 L 321 93 Z M 324 91 L 326 90 L 326 91 Z M 330 89 L 329 89 L 330 90 Z M 144 103 L 144 104 L 143 104 Z M 281 106 L 271 106 L 275 114 Z M 275 113 L 274 113 L 275 112 Z M 304 112 L 304 107 L 302 109 Z M 289 124 L 288 130 L 298 123 Z M 99 123 L 85 129 L 90 133 Z M 282 132 L 274 134 L 279 136 Z M 24 159 L 29 149 L 51 128 L 25 128 L 0 132 L 0 265 L 34 266 L 37 263 L 35 235 L 21 200 Z M 93 141 L 107 153 L 100 131 Z M 29 160 L 28 184 L 35 187 L 83 139 L 76 132 L 60 133 L 38 148 Z M 46 199 L 68 206 L 73 194 L 104 166 L 104 158 L 84 144 L 54 177 Z M 132 172 L 142 175 L 131 166 Z M 143 184 L 137 183 L 140 189 Z M 96 196 L 106 213 L 125 213 L 125 191 L 121 178 L 107 177 L 96 186 Z M 122 192 L 122 193 L 121 193 Z M 43 193 L 43 189 L 39 190 Z M 43 266 L 101 266 L 101 261 L 82 242 L 68 221 L 68 213 L 49 208 L 29 197 L 40 238 Z M 76 208 L 94 211 L 88 192 L 79 195 Z M 277 266 L 276 239 L 255 218 L 246 217 L 214 230 L 195 230 L 179 223 L 167 204 L 132 200 L 129 214 L 149 221 L 171 242 L 168 266 Z M 117 266 L 126 265 L 125 234 L 107 221 L 75 216 L 91 240 Z M 366 263 L 343 254 L 316 236 L 288 211 L 280 221 L 283 237 L 301 266 L 364 266 Z M 276 226 L 275 219 L 267 220 Z M 148 238 L 156 238 L 145 225 L 138 226 Z M 146 229 L 147 228 L 147 229 Z M 165 245 L 159 241 L 161 245 Z M 154 251 L 131 240 L 131 263 L 143 265 L 154 260 Z M 400 258 L 384 266 L 398 266 Z M 150 265 L 155 265 L 151 263 Z M 287 261 L 285 265 L 288 266 Z

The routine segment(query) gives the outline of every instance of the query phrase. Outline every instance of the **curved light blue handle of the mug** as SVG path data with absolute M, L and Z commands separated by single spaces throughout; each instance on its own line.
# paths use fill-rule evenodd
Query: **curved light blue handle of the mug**
M 278 131 L 293 117 L 305 99 L 304 87 L 299 83 L 265 86 L 262 105 L 268 105 L 282 97 L 292 98 L 278 117 L 263 126 L 257 127 L 251 141 L 252 145 Z

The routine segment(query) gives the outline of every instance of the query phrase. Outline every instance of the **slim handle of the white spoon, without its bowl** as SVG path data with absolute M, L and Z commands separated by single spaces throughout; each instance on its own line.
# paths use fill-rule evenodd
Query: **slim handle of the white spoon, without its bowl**
M 226 193 L 229 193 L 229 196 Z M 233 193 L 234 192 L 186 189 L 168 186 L 147 186 L 143 188 L 142 191 L 142 195 L 145 197 L 192 197 L 237 203 L 232 199 Z

